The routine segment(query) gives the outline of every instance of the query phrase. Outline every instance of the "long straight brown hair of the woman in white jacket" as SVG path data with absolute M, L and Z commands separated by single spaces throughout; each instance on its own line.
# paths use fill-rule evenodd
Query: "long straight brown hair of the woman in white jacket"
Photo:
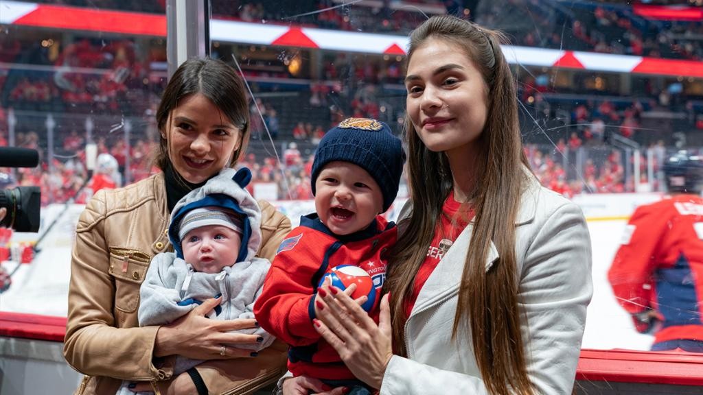
M 522 151 L 515 81 L 501 52 L 502 34 L 448 15 L 434 16 L 413 31 L 406 62 L 425 40 L 443 39 L 459 48 L 481 72 L 488 87 L 488 112 L 477 138 L 474 189 L 470 193 L 475 223 L 464 263 L 452 338 L 470 328 L 475 358 L 491 394 L 534 394 L 527 377 L 518 306 L 515 219 L 520 205 L 527 159 Z M 408 177 L 413 210 L 406 231 L 389 262 L 387 290 L 391 293 L 393 341 L 404 355 L 404 299 L 425 260 L 444 200 L 452 188 L 449 160 L 427 149 L 409 117 Z M 458 176 L 458 175 L 455 175 Z M 421 187 L 418 187 L 421 186 Z M 484 262 L 495 243 L 499 259 L 489 271 Z

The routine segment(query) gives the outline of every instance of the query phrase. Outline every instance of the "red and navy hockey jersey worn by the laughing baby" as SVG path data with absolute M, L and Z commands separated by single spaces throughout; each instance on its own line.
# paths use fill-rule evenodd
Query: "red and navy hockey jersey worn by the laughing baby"
M 313 326 L 317 285 L 332 268 L 353 264 L 366 270 L 380 292 L 386 275 L 385 254 L 396 238 L 395 224 L 382 216 L 363 231 L 338 236 L 317 214 L 310 214 L 281 242 L 254 304 L 254 315 L 262 328 L 290 345 L 288 370 L 293 375 L 322 380 L 355 378 Z M 370 313 L 377 323 L 379 302 L 380 294 Z

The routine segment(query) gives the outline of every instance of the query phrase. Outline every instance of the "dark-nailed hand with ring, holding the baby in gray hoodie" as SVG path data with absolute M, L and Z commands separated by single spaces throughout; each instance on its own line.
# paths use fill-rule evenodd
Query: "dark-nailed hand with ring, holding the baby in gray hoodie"
M 207 299 L 185 316 L 156 333 L 154 356 L 177 354 L 192 359 L 231 359 L 257 356 L 251 350 L 238 349 L 237 344 L 256 344 L 257 335 L 228 333 L 231 330 L 257 328 L 254 319 L 211 320 L 205 315 L 220 299 Z

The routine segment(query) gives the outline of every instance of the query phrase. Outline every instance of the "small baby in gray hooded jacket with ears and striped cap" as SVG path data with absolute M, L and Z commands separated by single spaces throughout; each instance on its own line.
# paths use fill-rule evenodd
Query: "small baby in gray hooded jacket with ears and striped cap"
M 149 265 L 140 288 L 139 325 L 172 323 L 219 295 L 221 302 L 210 318 L 254 318 L 254 302 L 271 263 L 255 257 L 262 238 L 261 210 L 244 188 L 250 179 L 248 169 L 223 169 L 176 204 L 169 225 L 174 252 L 157 254 Z M 256 352 L 274 340 L 261 328 L 235 332 L 260 340 L 237 344 L 238 349 Z M 174 376 L 202 362 L 178 356 Z M 133 395 L 128 385 L 123 382 L 117 395 Z

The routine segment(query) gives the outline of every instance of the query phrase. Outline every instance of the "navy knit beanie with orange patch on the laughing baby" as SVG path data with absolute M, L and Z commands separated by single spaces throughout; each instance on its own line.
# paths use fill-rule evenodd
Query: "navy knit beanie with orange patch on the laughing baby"
M 368 118 L 344 119 L 323 136 L 312 164 L 312 194 L 320 171 L 329 162 L 340 160 L 368 171 L 383 194 L 383 212 L 398 195 L 405 152 L 399 138 L 384 122 Z

